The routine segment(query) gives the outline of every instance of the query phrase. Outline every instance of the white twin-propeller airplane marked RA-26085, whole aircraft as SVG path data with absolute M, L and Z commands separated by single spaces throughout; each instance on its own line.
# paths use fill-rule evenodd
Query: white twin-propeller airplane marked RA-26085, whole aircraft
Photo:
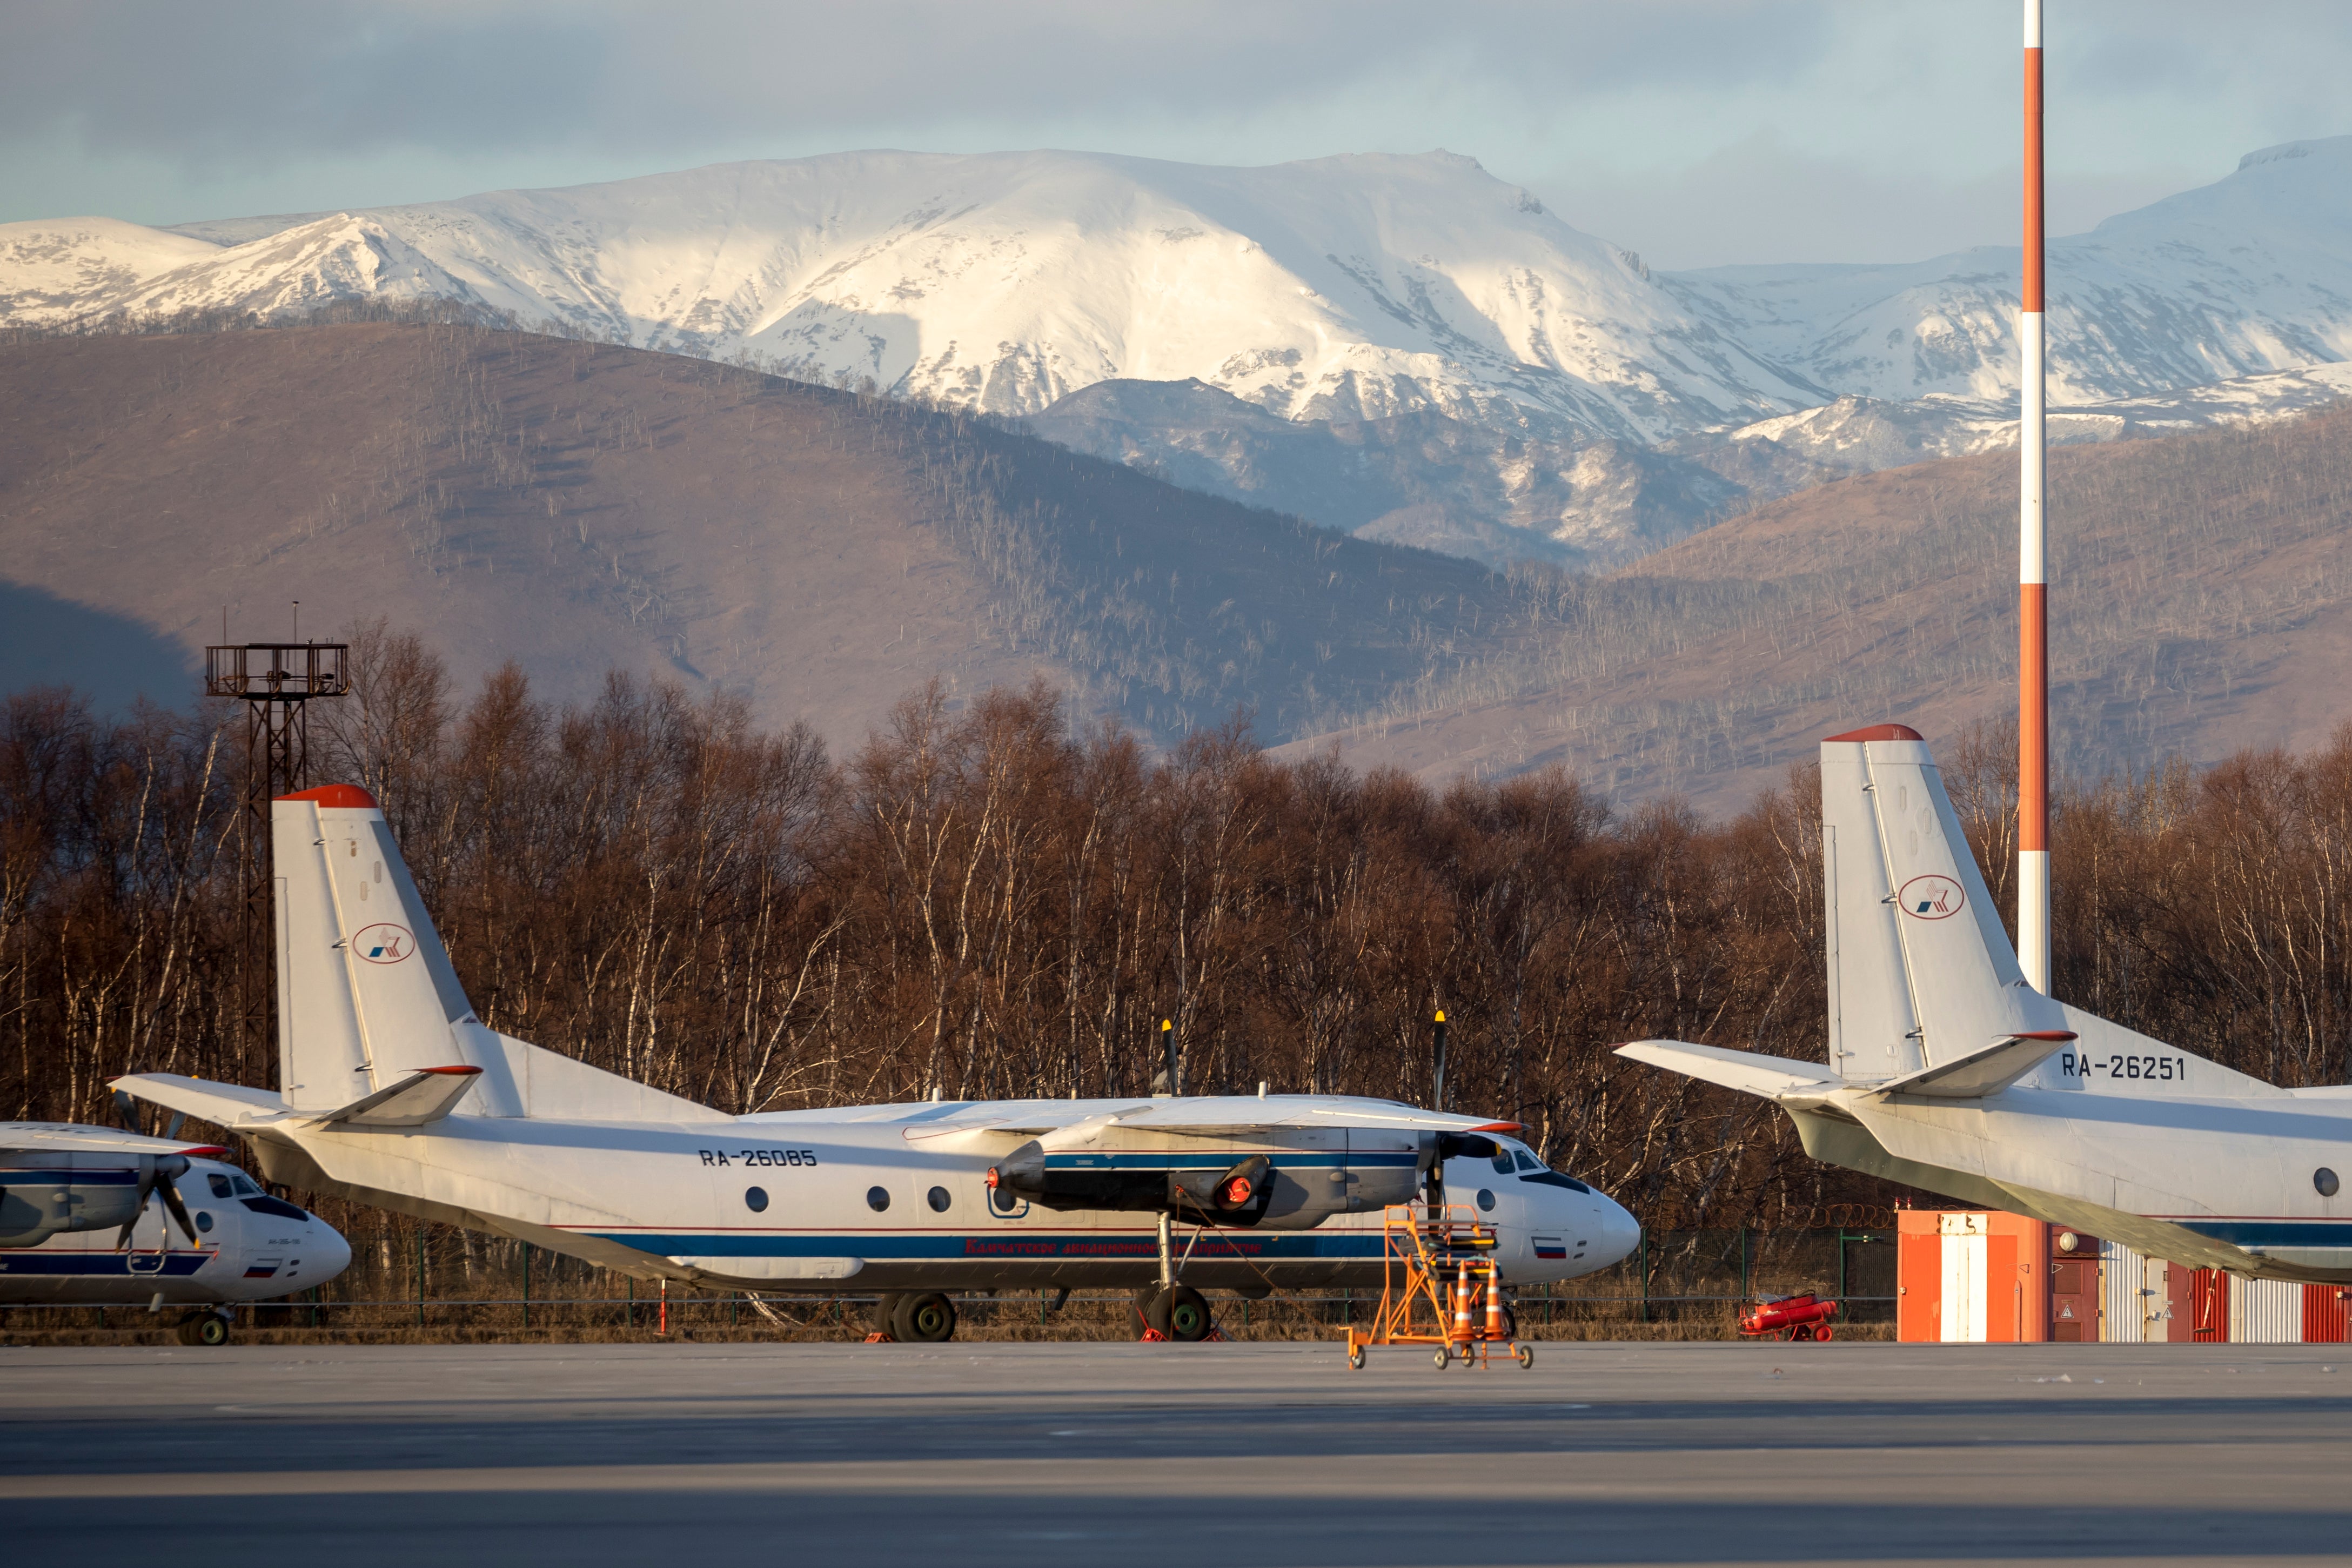
M 1512 1288 L 1602 1269 L 1639 1237 L 1510 1138 L 1515 1124 L 1390 1100 L 727 1117 L 485 1027 L 365 790 L 306 790 L 270 816 L 282 1091 L 176 1074 L 118 1088 L 230 1128 L 270 1180 L 306 1192 L 637 1279 L 875 1293 L 877 1328 L 898 1340 L 953 1335 L 950 1291 L 1129 1286 L 1148 1328 L 1197 1340 L 1211 1328 L 1200 1286 L 1378 1286 L 1383 1208 L 1425 1178 L 1432 1197 L 1475 1194 Z

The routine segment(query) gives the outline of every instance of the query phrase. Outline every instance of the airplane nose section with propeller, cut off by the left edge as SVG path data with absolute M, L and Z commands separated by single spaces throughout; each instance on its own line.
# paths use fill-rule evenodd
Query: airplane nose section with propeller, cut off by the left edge
M 195 1307 L 179 1321 L 186 1345 L 226 1345 L 235 1302 L 341 1274 L 343 1237 L 209 1159 L 226 1152 L 103 1126 L 0 1121 L 0 1305 L 162 1312 L 169 1302 Z

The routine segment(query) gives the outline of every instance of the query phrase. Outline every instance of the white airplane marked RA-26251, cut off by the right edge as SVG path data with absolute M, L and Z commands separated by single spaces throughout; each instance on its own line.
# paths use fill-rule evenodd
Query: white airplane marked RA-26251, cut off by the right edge
M 2352 1086 L 2277 1088 L 2025 983 L 1917 731 L 1820 743 L 1828 1063 L 1644 1039 L 1813 1159 L 2190 1267 L 2352 1281 Z

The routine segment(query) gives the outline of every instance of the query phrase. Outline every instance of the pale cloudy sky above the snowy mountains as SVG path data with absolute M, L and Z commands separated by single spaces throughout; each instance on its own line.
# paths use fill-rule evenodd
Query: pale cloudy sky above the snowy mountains
M 2077 233 L 2352 132 L 2345 0 L 2049 0 Z M 0 221 L 851 148 L 1470 153 L 1653 266 L 2016 242 L 2018 0 L 0 0 Z

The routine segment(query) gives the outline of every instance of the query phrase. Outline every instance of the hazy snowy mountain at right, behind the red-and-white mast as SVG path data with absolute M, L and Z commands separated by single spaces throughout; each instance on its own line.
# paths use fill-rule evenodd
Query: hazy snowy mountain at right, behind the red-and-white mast
M 2016 400 L 2016 247 L 1661 277 L 1724 336 L 1837 393 Z M 2227 179 L 2049 244 L 2053 404 L 2336 360 L 2352 360 L 2352 136 L 2249 153 Z

